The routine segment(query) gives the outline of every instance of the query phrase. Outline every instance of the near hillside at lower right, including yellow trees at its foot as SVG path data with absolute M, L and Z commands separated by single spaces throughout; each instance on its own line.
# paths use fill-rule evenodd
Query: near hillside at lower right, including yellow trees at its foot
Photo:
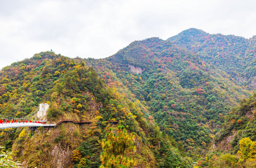
M 223 117 L 213 148 L 198 160 L 203 168 L 256 167 L 256 93 Z

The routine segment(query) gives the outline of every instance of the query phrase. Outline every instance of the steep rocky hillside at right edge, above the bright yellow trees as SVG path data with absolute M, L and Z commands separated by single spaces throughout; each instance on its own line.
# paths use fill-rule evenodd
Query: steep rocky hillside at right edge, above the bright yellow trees
M 225 151 L 237 153 L 239 141 L 249 137 L 256 141 L 256 94 L 249 99 L 244 99 L 238 107 L 224 117 L 223 129 L 215 137 L 215 147 Z M 225 141 L 229 138 L 230 143 Z

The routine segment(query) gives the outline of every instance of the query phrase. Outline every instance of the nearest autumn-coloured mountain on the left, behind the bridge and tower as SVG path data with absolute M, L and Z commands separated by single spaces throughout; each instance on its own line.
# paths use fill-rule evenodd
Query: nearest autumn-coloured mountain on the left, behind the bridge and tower
M 15 159 L 26 168 L 193 165 L 182 143 L 161 133 L 155 122 L 144 117 L 149 110 L 139 100 L 132 99 L 121 84 L 107 86 L 87 65 L 87 60 L 42 52 L 0 71 L 1 114 L 22 117 L 33 112 L 43 100 L 50 104 L 48 123 L 71 119 L 92 124 L 80 127 L 64 123 L 48 132 L 39 128 L 33 134 L 24 128 L 1 137 L 0 145 L 12 150 Z M 119 121 L 116 126 L 108 122 L 115 120 Z M 0 134 L 12 130 L 1 130 Z M 107 144 L 121 142 L 125 144 L 121 148 L 131 150 L 118 153 L 116 148 L 109 152 Z M 125 160 L 118 160 L 123 156 Z

